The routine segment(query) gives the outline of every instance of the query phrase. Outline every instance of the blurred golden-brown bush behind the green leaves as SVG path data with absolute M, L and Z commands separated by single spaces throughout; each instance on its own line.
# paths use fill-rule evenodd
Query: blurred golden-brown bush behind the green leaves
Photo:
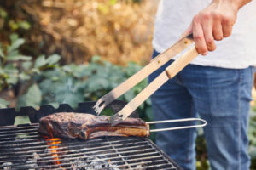
M 26 38 L 24 54 L 60 54 L 66 64 L 89 62 L 94 55 L 115 64 L 145 63 L 155 9 L 141 0 L 3 1 L 0 41 L 19 33 Z

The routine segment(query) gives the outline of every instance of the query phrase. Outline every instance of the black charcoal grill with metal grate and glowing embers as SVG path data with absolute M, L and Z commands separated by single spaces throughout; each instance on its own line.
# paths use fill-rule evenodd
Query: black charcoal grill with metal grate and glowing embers
M 58 109 L 43 105 L 0 110 L 0 169 L 4 170 L 180 170 L 169 156 L 150 139 L 137 137 L 102 137 L 89 140 L 46 139 L 38 135 L 38 121 L 55 112 L 73 111 L 96 114 L 94 102 L 80 103 L 77 109 L 62 104 Z M 115 101 L 108 108 L 119 111 L 124 102 Z M 134 112 L 133 116 L 137 116 Z M 15 116 L 29 116 L 30 124 L 14 126 Z

